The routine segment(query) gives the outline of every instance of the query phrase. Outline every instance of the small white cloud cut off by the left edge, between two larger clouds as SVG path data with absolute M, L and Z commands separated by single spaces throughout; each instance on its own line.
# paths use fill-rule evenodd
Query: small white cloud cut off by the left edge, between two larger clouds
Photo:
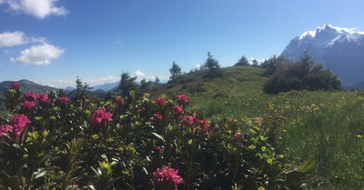
M 0 34 L 0 47 L 23 45 L 27 41 L 27 37 L 23 32 L 15 31 Z

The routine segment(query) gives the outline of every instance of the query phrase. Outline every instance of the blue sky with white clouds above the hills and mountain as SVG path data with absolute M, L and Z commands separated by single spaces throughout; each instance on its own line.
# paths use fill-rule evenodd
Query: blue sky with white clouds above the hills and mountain
M 168 80 L 207 52 L 222 67 L 280 55 L 326 24 L 364 31 L 363 0 L 0 0 L 0 82 Z

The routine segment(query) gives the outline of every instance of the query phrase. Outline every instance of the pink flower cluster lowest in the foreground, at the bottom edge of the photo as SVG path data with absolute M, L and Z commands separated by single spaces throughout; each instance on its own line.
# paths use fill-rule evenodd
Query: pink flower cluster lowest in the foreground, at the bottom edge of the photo
M 157 190 L 177 190 L 177 185 L 183 183 L 183 179 L 177 173 L 178 170 L 168 166 L 157 168 L 157 171 L 153 173 Z

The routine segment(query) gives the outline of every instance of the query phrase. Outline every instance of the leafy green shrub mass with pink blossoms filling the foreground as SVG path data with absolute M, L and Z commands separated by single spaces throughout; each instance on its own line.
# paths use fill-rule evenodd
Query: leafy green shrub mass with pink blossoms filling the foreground
M 208 120 L 187 95 L 70 105 L 14 86 L 0 117 L 0 189 L 295 189 L 312 165 L 285 172 L 269 144 L 278 123 Z

